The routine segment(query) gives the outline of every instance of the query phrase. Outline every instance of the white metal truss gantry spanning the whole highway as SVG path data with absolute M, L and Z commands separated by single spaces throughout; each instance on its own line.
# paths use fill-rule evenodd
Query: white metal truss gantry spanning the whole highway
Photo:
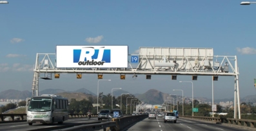
M 127 68 L 57 68 L 55 53 L 37 53 L 32 96 L 39 95 L 39 78 L 52 80 L 52 74 L 59 73 L 234 76 L 234 118 L 238 109 L 241 119 L 237 56 L 213 55 L 212 48 L 139 48 L 139 54 L 128 55 L 132 56 L 139 61 L 134 65 L 128 58 Z

